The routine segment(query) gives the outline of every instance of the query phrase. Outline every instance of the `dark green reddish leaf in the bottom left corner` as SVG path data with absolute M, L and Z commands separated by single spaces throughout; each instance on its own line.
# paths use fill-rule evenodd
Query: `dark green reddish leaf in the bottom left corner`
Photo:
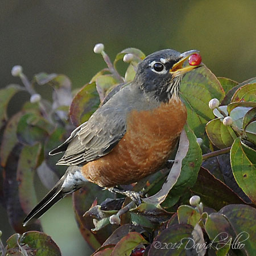
M 28 255 L 61 256 L 60 249 L 51 237 L 42 232 L 30 231 L 20 237 L 20 245 Z

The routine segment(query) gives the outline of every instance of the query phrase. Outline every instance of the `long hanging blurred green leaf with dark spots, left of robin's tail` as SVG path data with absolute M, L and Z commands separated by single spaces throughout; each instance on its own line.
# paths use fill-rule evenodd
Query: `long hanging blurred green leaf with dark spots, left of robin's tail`
M 20 152 L 17 180 L 19 185 L 19 201 L 24 212 L 28 213 L 36 205 L 36 192 L 34 187 L 35 169 L 38 165 L 41 145 L 24 146 Z

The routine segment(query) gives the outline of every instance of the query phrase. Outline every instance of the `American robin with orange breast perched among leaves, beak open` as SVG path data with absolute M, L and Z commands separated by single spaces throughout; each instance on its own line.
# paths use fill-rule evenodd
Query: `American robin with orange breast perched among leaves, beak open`
M 199 67 L 183 67 L 197 52 L 164 49 L 148 55 L 138 64 L 133 82 L 115 90 L 87 122 L 49 152 L 65 152 L 57 164 L 69 167 L 23 225 L 88 181 L 112 188 L 158 171 L 174 150 L 187 119 L 179 85 L 185 73 Z

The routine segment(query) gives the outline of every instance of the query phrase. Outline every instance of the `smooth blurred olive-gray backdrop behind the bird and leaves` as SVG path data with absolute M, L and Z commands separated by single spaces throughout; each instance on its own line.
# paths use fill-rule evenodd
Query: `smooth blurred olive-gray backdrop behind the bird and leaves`
M 199 49 L 216 76 L 241 82 L 256 75 L 255 13 L 255 0 L 2 0 L 0 86 L 20 83 L 11 76 L 11 68 L 19 64 L 30 79 L 39 72 L 64 73 L 73 88 L 79 88 L 105 67 L 100 55 L 93 53 L 99 42 L 112 59 L 127 47 L 146 55 L 163 48 Z M 39 92 L 51 97 L 48 86 Z M 16 105 L 23 98 L 28 97 L 22 94 Z M 64 256 L 89 255 L 71 205 L 68 197 L 49 210 L 42 218 L 44 231 Z M 13 230 L 1 207 L 0 214 L 5 241 Z

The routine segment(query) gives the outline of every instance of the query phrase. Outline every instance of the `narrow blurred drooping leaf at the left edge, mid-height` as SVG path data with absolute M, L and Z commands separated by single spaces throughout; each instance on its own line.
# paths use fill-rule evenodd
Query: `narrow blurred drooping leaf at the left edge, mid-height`
M 9 122 L 5 127 L 5 131 L 3 131 L 3 138 L 0 145 L 0 159 L 1 166 L 5 166 L 7 162 L 7 158 L 13 150 L 16 143 L 18 143 L 18 138 L 16 137 L 17 125 L 19 122 L 22 113 L 19 112 L 13 117 L 10 118 Z

